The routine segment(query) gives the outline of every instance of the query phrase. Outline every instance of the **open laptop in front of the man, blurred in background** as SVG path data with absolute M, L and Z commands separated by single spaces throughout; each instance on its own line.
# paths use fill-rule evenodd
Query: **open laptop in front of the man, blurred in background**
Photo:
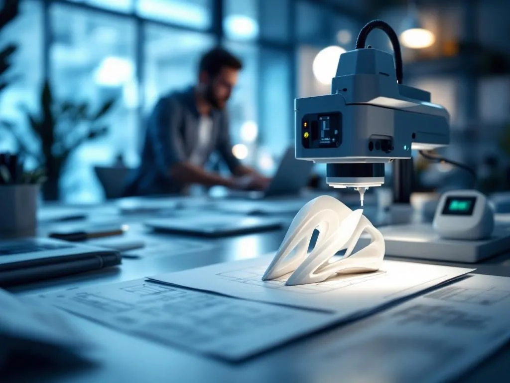
M 290 147 L 286 150 L 276 173 L 265 190 L 255 192 L 234 190 L 229 192 L 227 197 L 263 199 L 299 195 L 301 189 L 308 184 L 313 166 L 313 161 L 297 160 L 294 157 L 294 147 Z

